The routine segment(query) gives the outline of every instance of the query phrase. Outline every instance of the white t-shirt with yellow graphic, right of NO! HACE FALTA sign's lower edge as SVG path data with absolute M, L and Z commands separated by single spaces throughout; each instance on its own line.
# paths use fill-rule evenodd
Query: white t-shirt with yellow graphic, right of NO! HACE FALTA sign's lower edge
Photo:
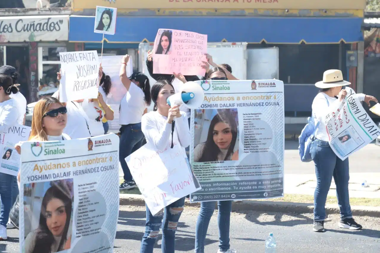
M 86 112 L 89 121 L 87 122 L 90 127 L 91 136 L 99 136 L 104 134 L 103 122 L 101 121 L 104 117 L 103 111 L 99 106 L 98 102 L 89 102 L 85 99 L 82 102 L 82 108 Z

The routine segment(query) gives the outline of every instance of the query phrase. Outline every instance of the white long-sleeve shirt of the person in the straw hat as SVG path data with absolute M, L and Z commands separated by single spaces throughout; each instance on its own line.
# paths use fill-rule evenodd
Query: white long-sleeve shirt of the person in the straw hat
M 365 94 L 358 93 L 357 95 L 359 101 L 364 101 L 364 98 L 366 96 Z M 313 104 L 311 106 L 312 115 L 314 117 L 315 124 L 317 124 L 318 121 L 320 122 L 315 130 L 315 138 L 320 139 L 321 141 L 329 141 L 329 136 L 326 132 L 325 121 L 322 119 L 322 117 L 324 117 L 328 111 L 331 111 L 331 109 L 338 109 L 339 103 L 339 99 L 328 96 L 324 92 L 320 92 L 317 94 L 317 96 L 315 96 Z

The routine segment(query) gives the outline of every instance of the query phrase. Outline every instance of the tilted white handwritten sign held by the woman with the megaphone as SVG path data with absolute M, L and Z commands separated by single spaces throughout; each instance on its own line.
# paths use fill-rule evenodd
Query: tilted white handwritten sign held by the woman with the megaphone
M 125 161 L 153 215 L 201 189 L 185 150 L 178 144 L 161 152 L 148 143 Z

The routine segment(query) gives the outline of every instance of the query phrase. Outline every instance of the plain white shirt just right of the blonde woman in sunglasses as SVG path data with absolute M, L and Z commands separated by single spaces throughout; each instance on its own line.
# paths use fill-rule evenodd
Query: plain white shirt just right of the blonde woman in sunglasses
M 67 124 L 63 133 L 71 137 L 71 139 L 89 138 L 90 131 L 87 128 L 87 122 L 90 119 L 80 104 L 71 101 L 66 104 Z

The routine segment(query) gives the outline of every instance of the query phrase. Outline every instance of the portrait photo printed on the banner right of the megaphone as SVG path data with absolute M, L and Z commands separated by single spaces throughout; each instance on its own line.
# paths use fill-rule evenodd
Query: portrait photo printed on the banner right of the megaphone
M 194 118 L 194 161 L 239 160 L 237 109 L 197 109 Z

